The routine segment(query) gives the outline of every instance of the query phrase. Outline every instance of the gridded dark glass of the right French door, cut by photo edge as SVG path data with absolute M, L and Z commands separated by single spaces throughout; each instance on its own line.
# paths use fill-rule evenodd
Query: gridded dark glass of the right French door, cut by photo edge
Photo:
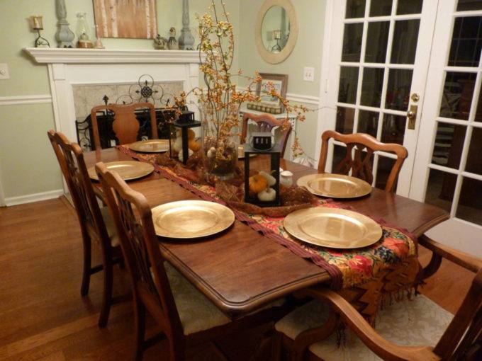
M 469 4 L 459 2 L 461 6 Z M 482 11 L 454 14 L 425 202 L 482 226 Z

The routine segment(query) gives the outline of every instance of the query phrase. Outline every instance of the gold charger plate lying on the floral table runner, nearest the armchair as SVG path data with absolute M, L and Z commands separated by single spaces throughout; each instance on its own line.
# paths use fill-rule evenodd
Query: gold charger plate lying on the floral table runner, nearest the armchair
M 373 219 L 340 208 L 314 207 L 286 216 L 284 229 L 291 236 L 316 246 L 360 248 L 381 238 L 381 227 Z

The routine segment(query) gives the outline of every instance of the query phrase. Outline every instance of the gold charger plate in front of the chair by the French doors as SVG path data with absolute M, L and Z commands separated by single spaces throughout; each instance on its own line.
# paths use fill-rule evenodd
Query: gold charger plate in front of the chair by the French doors
M 342 174 L 310 174 L 299 178 L 296 184 L 308 188 L 315 195 L 330 198 L 357 198 L 371 193 L 369 183 Z

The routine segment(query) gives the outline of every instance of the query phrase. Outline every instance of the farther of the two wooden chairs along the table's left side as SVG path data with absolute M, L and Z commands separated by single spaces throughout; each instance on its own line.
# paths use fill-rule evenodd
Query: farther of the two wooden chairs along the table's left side
M 60 169 L 74 202 L 77 218 L 82 232 L 84 248 L 84 270 L 80 294 L 89 294 L 90 277 L 103 270 L 103 297 L 99 327 L 105 327 L 111 305 L 118 302 L 112 296 L 113 265 L 122 265 L 118 236 L 106 207 L 101 209 L 96 200 L 92 183 L 87 173 L 84 154 L 79 144 L 71 143 L 60 132 L 49 130 L 47 135 L 55 151 Z M 92 240 L 99 243 L 102 253 L 102 264 L 92 265 Z

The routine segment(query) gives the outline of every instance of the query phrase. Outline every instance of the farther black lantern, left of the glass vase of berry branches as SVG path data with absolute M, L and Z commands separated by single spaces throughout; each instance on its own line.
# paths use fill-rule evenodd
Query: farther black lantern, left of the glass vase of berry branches
M 169 156 L 186 164 L 189 156 L 201 148 L 191 128 L 200 127 L 201 122 L 194 120 L 194 112 L 183 110 L 179 118 L 172 122 L 169 129 Z M 191 130 L 191 132 L 190 132 Z

